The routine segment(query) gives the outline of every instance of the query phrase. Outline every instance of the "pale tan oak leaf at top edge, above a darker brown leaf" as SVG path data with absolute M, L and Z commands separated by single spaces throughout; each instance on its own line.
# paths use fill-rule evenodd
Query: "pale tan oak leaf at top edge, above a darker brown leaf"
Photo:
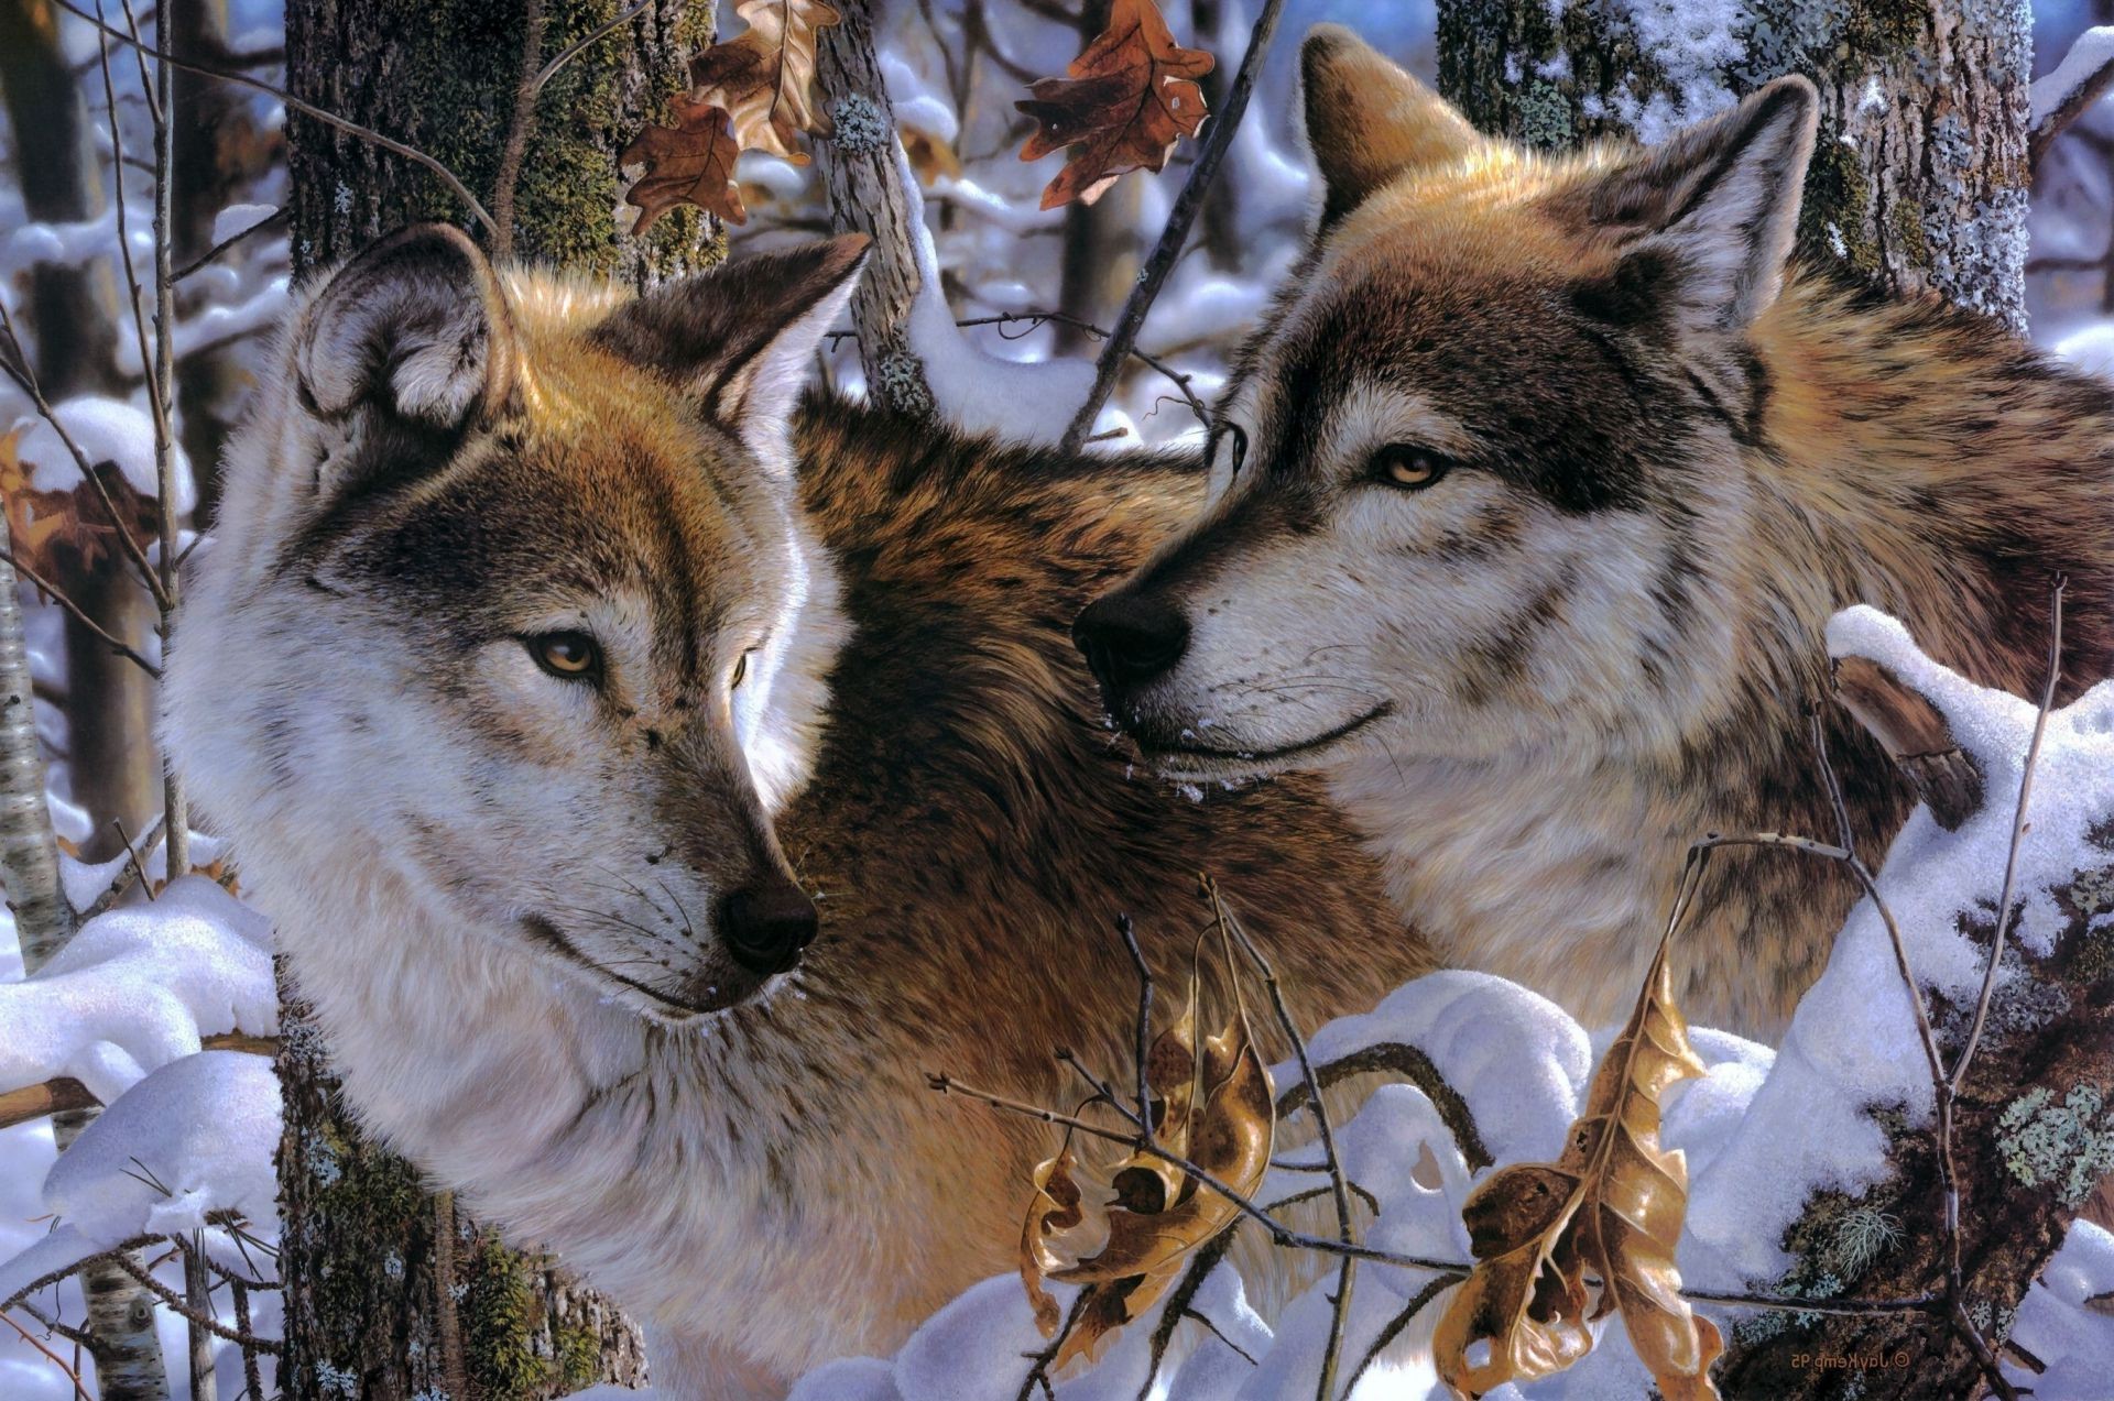
M 831 129 L 814 99 L 816 32 L 843 17 L 822 0 L 742 0 L 734 13 L 748 30 L 689 61 L 689 95 L 727 110 L 742 150 L 805 165 L 799 133 Z

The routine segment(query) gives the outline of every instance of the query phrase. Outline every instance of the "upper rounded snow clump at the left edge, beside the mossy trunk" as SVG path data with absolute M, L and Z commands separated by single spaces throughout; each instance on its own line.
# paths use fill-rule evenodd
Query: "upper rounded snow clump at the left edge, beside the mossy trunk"
M 203 1035 L 277 1031 L 271 926 L 203 877 L 85 923 L 34 978 L 0 983 L 0 1088 L 55 1076 L 112 1103 Z

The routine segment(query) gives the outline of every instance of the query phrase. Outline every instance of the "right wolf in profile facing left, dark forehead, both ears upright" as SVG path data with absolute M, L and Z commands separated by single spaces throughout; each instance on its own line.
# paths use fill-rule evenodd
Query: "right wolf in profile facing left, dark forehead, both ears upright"
M 1605 1025 L 1695 837 L 1835 839 L 1803 714 L 1833 611 L 2036 693 L 2061 571 L 2063 693 L 2114 670 L 2108 387 L 1793 264 L 1803 78 L 1545 156 L 1345 30 L 1300 61 L 1311 245 L 1216 404 L 1203 511 L 1076 623 L 1163 773 L 1325 776 L 1440 957 Z M 1911 797 L 1822 723 L 1875 862 Z M 1719 854 L 1689 1014 L 1780 1029 L 1856 894 Z

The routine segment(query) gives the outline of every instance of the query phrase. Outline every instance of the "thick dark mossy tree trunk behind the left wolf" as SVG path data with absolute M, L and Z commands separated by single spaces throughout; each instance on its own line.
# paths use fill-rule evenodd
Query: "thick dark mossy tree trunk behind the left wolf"
M 541 25 L 533 40 L 531 11 Z M 438 156 L 488 207 L 505 203 L 497 186 L 512 186 L 518 260 L 649 283 L 723 251 L 696 211 L 664 218 L 643 241 L 617 232 L 615 156 L 685 91 L 712 8 L 655 0 L 558 70 L 528 104 L 524 137 L 509 142 L 522 74 L 617 13 L 615 0 L 290 0 L 288 85 Z M 482 237 L 427 171 L 296 114 L 288 167 L 298 277 L 414 220 Z M 288 1395 L 512 1401 L 643 1382 L 641 1335 L 609 1300 L 459 1217 L 416 1169 L 359 1137 L 328 1046 L 283 974 Z

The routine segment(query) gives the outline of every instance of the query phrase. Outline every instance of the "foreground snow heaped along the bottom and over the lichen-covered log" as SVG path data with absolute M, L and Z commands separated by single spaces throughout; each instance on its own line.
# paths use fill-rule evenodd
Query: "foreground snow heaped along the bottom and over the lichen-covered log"
M 1879 890 L 1894 911 L 1920 980 L 1960 1004 L 1979 989 L 1985 955 L 1958 932 L 1960 911 L 1994 907 L 2010 845 L 2013 803 L 2036 708 L 2015 695 L 1974 687 L 1924 657 L 1907 630 L 1873 609 L 1839 613 L 1826 632 L 1835 657 L 1871 657 L 1928 695 L 1953 733 L 1983 765 L 1989 801 L 1958 833 L 1917 809 L 1896 839 Z M 2036 767 L 2032 833 L 2021 847 L 2017 900 L 2027 957 L 2046 955 L 2059 928 L 2048 888 L 2067 883 L 2080 864 L 2084 833 L 2114 814 L 2114 683 L 2087 691 L 2048 718 Z M 1991 1035 L 2027 1029 L 2025 1010 L 2000 983 Z M 1588 1035 L 1560 1008 L 1501 978 L 1438 972 L 1385 997 L 1372 1012 L 1342 1016 L 1309 1038 L 1315 1063 L 1378 1046 L 1421 1050 L 1467 1103 L 1497 1158 L 1550 1160 L 1579 1109 L 1592 1057 L 1613 1029 Z M 1807 1198 L 1822 1188 L 1858 1194 L 1886 1171 L 1886 1135 L 1871 1109 L 1903 1107 L 1911 1122 L 1930 1116 L 1930 1080 L 1913 1029 L 1907 989 L 1875 907 L 1852 911 L 1820 980 L 1807 991 L 1782 1048 L 1695 1027 L 1691 1042 L 1708 1073 L 1676 1084 L 1664 1103 L 1664 1141 L 1689 1164 L 1687 1232 L 1679 1249 L 1683 1278 L 1702 1289 L 1767 1289 L 1793 1264 L 1778 1247 Z M 1279 1086 L 1296 1063 L 1273 1067 Z M 1480 1181 L 1433 1101 L 1414 1084 L 1374 1088 L 1338 1128 L 1347 1175 L 1378 1202 L 1361 1238 L 1378 1249 L 1425 1259 L 1467 1259 L 1461 1202 Z M 1298 1164 L 1321 1162 L 1319 1147 L 1281 1150 L 1260 1200 L 1319 1185 Z M 1313 1278 L 1313 1274 L 1309 1274 Z M 1378 1329 L 1431 1274 L 1404 1266 L 1359 1268 L 1347 1367 L 1366 1355 Z M 1254 1281 L 1268 1291 L 1273 1285 Z M 1283 1281 L 1277 1281 L 1281 1285 Z M 1249 1352 L 1184 1325 L 1161 1371 L 1165 1397 L 1264 1399 L 1306 1395 L 1330 1327 L 1334 1270 L 1323 1270 L 1266 1323 L 1247 1308 L 1230 1264 L 1207 1283 L 1205 1312 Z M 2072 1401 L 2103 1395 L 2114 1365 L 2114 1319 L 2087 1304 L 2114 1289 L 2114 1236 L 2078 1223 L 2029 1291 L 2017 1338 L 2048 1371 L 2017 1374 L 2036 1395 Z M 1059 1293 L 1059 1300 L 1068 1295 Z M 1357 1388 L 1378 1397 L 1438 1397 L 1429 1338 L 1444 1314 L 1440 1295 L 1395 1340 Z M 1731 1310 L 1708 1310 L 1729 1327 Z M 1129 1325 L 1091 1369 L 1057 1380 L 1061 1401 L 1137 1395 L 1144 1374 L 1137 1342 L 1152 1314 Z M 1042 1344 L 1021 1283 L 983 1281 L 924 1323 L 894 1359 L 850 1359 L 810 1374 L 795 1397 L 856 1401 L 968 1401 L 1013 1395 L 1025 1376 L 1023 1352 Z M 1577 1399 L 1649 1395 L 1649 1378 L 1621 1327 L 1600 1325 L 1594 1352 L 1577 1367 L 1497 1397 Z

